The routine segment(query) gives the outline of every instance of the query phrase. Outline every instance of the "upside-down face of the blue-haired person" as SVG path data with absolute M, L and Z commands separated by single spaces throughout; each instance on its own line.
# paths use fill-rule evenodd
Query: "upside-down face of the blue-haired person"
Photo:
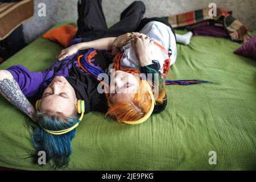
M 69 117 L 76 114 L 76 102 L 77 98 L 73 87 L 63 76 L 57 76 L 44 90 L 40 111 Z

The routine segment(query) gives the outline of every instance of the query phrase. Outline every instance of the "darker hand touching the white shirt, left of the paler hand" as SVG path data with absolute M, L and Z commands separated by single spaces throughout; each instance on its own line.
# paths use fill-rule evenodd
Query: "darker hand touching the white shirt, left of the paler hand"
M 128 44 L 131 39 L 134 39 L 138 36 L 141 36 L 141 34 L 138 32 L 126 33 L 124 35 L 118 36 L 113 42 L 112 54 L 115 55 L 123 46 Z

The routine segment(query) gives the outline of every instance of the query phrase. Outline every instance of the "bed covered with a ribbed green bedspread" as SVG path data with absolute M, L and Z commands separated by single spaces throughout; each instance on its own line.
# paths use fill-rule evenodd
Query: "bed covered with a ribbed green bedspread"
M 256 169 L 256 61 L 235 55 L 240 46 L 208 36 L 193 37 L 189 46 L 178 44 L 177 61 L 168 78 L 200 78 L 218 84 L 168 86 L 166 110 L 141 125 L 119 124 L 98 112 L 86 114 L 72 140 L 69 165 L 60 169 Z M 30 71 L 43 71 L 61 49 L 41 37 L 0 69 L 22 64 Z M 35 124 L 2 96 L 0 123 L 1 167 L 55 169 L 52 162 L 41 167 L 31 158 L 37 155 L 30 138 Z M 217 163 L 210 164 L 215 156 Z

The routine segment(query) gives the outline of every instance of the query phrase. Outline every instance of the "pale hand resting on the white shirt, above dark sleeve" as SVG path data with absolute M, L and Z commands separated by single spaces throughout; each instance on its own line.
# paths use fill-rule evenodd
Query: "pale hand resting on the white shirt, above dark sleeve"
M 139 38 L 135 38 L 134 41 L 131 41 L 131 45 L 142 67 L 152 64 L 152 42 L 148 36 L 143 34 Z

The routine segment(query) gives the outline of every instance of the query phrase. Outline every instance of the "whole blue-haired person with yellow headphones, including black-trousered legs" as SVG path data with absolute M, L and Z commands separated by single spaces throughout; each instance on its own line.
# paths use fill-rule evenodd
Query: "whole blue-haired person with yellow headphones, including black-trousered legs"
M 121 14 L 120 22 L 103 32 L 96 23 L 103 20 L 105 24 L 105 18 L 100 17 L 103 14 L 101 2 L 79 1 L 77 38 L 84 37 L 86 33 L 89 41 L 104 38 L 105 33 L 109 33 L 107 36 L 119 36 L 123 32 L 135 31 L 144 13 L 142 2 L 132 3 Z M 92 17 L 96 12 L 98 16 Z M 82 29 L 85 27 L 87 29 Z M 92 39 L 89 39 L 90 36 Z M 36 151 L 45 151 L 47 162 L 53 160 L 56 167 L 68 165 L 72 153 L 71 141 L 81 122 L 77 115 L 89 111 L 108 111 L 105 93 L 97 90 L 99 82 L 82 71 L 77 63 L 77 57 L 86 51 L 88 50 L 65 56 L 62 61 L 56 60 L 43 72 L 30 72 L 23 65 L 0 70 L 0 93 L 38 123 L 31 134 L 32 143 Z M 112 60 L 110 52 L 98 51 L 93 63 L 105 70 Z M 35 102 L 36 108 L 31 102 Z M 83 111 L 80 107 L 84 107 Z

